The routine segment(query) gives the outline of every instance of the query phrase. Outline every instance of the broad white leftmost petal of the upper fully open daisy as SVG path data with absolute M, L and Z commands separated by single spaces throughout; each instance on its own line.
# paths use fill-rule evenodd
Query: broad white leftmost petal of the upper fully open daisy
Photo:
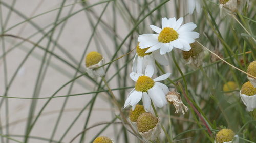
M 148 47 L 151 47 L 153 45 L 156 45 L 158 43 L 157 37 L 158 36 L 156 34 L 142 34 L 142 35 L 139 35 L 138 41 L 140 42 L 139 43 L 140 48 L 144 49 L 144 48 L 148 48 Z

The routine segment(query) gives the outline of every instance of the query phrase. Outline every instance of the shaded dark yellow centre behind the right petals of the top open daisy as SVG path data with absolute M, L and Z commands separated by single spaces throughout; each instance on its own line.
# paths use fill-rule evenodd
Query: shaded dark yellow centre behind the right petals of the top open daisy
M 203 47 L 197 42 L 190 44 L 191 49 L 189 51 L 182 51 L 182 55 L 184 59 L 188 59 L 190 56 L 195 57 L 198 56 L 201 52 L 203 52 Z

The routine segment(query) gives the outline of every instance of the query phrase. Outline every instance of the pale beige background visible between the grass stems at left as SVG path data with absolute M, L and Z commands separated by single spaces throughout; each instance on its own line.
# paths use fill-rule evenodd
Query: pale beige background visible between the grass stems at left
M 10 0 L 4 0 L 5 3 L 8 5 L 12 4 L 12 1 Z M 95 1 L 89 1 L 90 4 L 95 3 Z M 58 8 L 60 6 L 61 1 L 52 1 L 52 0 L 18 0 L 15 3 L 14 9 L 18 10 L 22 14 L 24 14 L 27 17 L 32 17 L 32 15 L 38 15 L 40 13 Z M 72 4 L 74 1 L 67 1 L 65 5 Z M 131 7 L 132 2 L 127 2 L 128 7 Z M 130 5 L 131 4 L 131 5 Z M 173 2 L 168 2 L 168 5 L 170 5 L 170 8 L 173 6 Z M 99 6 L 94 7 L 94 10 L 96 10 L 97 15 L 100 15 L 100 12 L 103 10 L 103 7 L 105 4 L 101 4 Z M 9 12 L 9 9 L 7 9 L 4 6 L 1 6 L 2 8 L 2 16 L 3 19 L 6 19 L 6 16 Z M 82 6 L 80 4 L 76 4 L 73 12 L 80 10 Z M 61 13 L 61 17 L 67 16 L 68 12 L 70 10 L 70 7 L 63 8 L 63 11 Z M 111 24 L 112 21 L 112 3 L 109 5 L 108 9 L 106 10 L 105 14 L 103 15 L 103 20 L 105 22 L 108 22 Z M 137 10 L 135 9 L 133 11 L 133 14 L 136 15 Z M 154 14 L 154 13 L 153 13 Z M 173 17 L 175 13 L 168 14 L 169 16 Z M 45 27 L 46 25 L 53 23 L 55 21 L 57 15 L 57 11 L 50 12 L 48 14 L 41 15 L 37 18 L 34 18 L 32 21 L 35 22 L 38 26 Z M 118 21 L 117 21 L 117 33 L 122 39 L 127 35 L 127 33 L 131 30 L 131 24 L 127 23 L 129 21 L 124 21 L 120 14 L 117 13 Z M 137 16 L 136 16 L 137 17 Z M 96 23 L 96 18 L 94 18 L 93 22 Z M 126 19 L 127 20 L 127 19 Z M 11 13 L 11 18 L 7 24 L 6 28 L 9 28 L 19 22 L 24 21 L 23 18 L 20 18 L 17 14 L 14 12 Z M 129 26 L 127 26 L 129 25 Z M 56 36 L 59 32 L 59 27 L 56 28 L 54 39 L 56 39 Z M 48 31 L 49 28 L 47 28 L 46 31 Z M 31 24 L 28 22 L 25 22 L 25 24 L 21 24 L 15 28 L 13 28 L 11 31 L 8 31 L 8 34 L 13 35 L 19 35 L 20 37 L 27 38 L 31 34 L 37 32 Z M 58 43 L 64 47 L 71 55 L 74 56 L 76 61 L 79 61 L 82 55 L 82 52 L 88 43 L 89 37 L 92 33 L 92 28 L 89 24 L 88 18 L 84 11 L 72 16 L 70 18 L 61 34 L 60 39 L 58 40 Z M 108 57 L 112 56 L 114 53 L 113 48 L 113 42 L 111 41 L 111 38 L 109 38 L 108 35 L 106 35 L 105 31 L 103 30 L 102 26 L 99 26 L 97 28 L 97 34 L 100 34 L 103 38 L 104 42 L 106 43 L 105 46 L 101 45 L 101 51 L 102 54 L 105 56 L 106 61 L 109 61 Z M 134 35 L 136 36 L 136 35 Z M 37 42 L 42 37 L 42 34 L 37 34 L 33 38 L 30 38 L 31 41 Z M 95 39 L 94 39 L 95 40 Z M 90 44 L 89 51 L 98 50 L 96 49 L 95 42 L 92 41 Z M 15 40 L 10 37 L 5 37 L 5 48 L 10 49 L 15 44 L 21 42 L 21 40 Z M 43 47 L 46 47 L 48 42 L 48 39 L 45 38 L 42 42 L 40 42 L 40 45 Z M 118 41 L 120 43 L 120 41 Z M 134 47 L 136 43 L 133 43 L 132 47 Z M 126 44 L 125 44 L 126 45 Z M 119 56 L 122 55 L 127 51 L 127 46 L 123 46 L 123 52 L 119 52 Z M 50 48 L 53 47 L 53 44 L 51 43 Z M 1 40 L 1 50 L 0 55 L 3 54 L 2 51 L 2 40 Z M 25 55 L 27 54 L 28 50 L 32 48 L 32 45 L 25 42 L 22 45 L 18 46 L 14 50 L 12 50 L 8 55 L 6 56 L 7 60 L 7 71 L 8 71 L 8 82 L 10 81 L 11 77 L 13 76 L 15 70 L 17 69 L 20 62 L 24 59 Z M 110 52 L 111 55 L 107 55 L 108 52 Z M 60 55 L 64 59 L 68 59 L 67 56 L 65 56 L 58 48 L 55 48 L 54 53 Z M 41 64 L 41 58 L 44 55 L 44 52 L 38 48 L 34 50 L 34 52 L 30 55 L 26 63 L 22 66 L 22 68 L 19 70 L 12 86 L 9 89 L 8 95 L 9 96 L 15 96 L 15 97 L 32 97 L 36 78 L 39 72 L 39 67 Z M 134 55 L 134 53 L 133 53 Z M 68 60 L 73 65 L 75 65 L 71 60 Z M 120 64 L 123 63 L 122 61 L 119 62 Z M 77 65 L 76 65 L 77 66 Z M 84 64 L 82 64 L 84 66 Z M 131 64 L 129 65 L 129 71 L 131 70 Z M 62 68 L 60 70 L 56 68 Z M 108 73 L 108 77 L 111 77 L 116 69 L 114 66 L 111 66 L 110 69 L 111 72 Z M 41 91 L 39 94 L 39 97 L 50 97 L 61 85 L 68 82 L 70 79 L 72 79 L 75 71 L 74 69 L 70 68 L 66 64 L 63 64 L 56 58 L 52 57 L 51 64 L 47 70 L 47 74 L 45 76 L 44 82 L 42 83 Z M 123 73 L 123 71 L 121 72 Z M 78 74 L 80 75 L 80 74 Z M 128 76 L 128 75 L 127 75 Z M 127 85 L 133 85 L 134 83 L 129 79 L 129 83 Z M 117 79 L 113 79 L 111 82 L 111 88 L 117 88 Z M 88 81 L 86 78 L 80 78 L 75 83 L 73 90 L 71 94 L 76 93 L 85 93 L 94 91 L 95 89 L 94 84 L 92 82 Z M 69 89 L 69 85 L 62 89 L 58 95 L 67 95 Z M 126 90 L 126 92 L 129 92 L 129 90 Z M 0 94 L 3 95 L 5 92 L 5 85 L 4 85 L 4 63 L 3 59 L 0 59 Z M 115 92 L 117 94 L 118 92 Z M 88 101 L 92 98 L 93 95 L 81 95 L 81 96 L 75 96 L 70 97 L 68 100 L 68 103 L 66 104 L 65 112 L 62 115 L 60 124 L 58 126 L 57 132 L 55 134 L 54 139 L 58 140 L 60 136 L 66 131 L 68 126 L 71 124 L 71 122 L 74 120 L 74 118 L 77 116 L 78 112 L 88 103 Z M 1 98 L 2 99 L 2 98 Z M 109 122 L 111 121 L 113 110 L 110 107 L 110 104 L 108 103 L 107 96 L 105 93 L 102 93 L 99 95 L 99 98 L 97 98 L 96 103 L 94 105 L 94 111 L 91 116 L 91 120 L 89 122 L 89 126 L 92 126 L 97 123 L 101 122 Z M 52 130 L 54 128 L 56 119 L 58 117 L 58 112 L 63 104 L 63 101 L 65 98 L 54 98 L 51 100 L 51 102 L 47 105 L 46 109 L 42 113 L 39 120 L 36 122 L 36 125 L 34 126 L 31 136 L 39 136 L 39 137 L 45 137 L 50 138 L 52 134 Z M 37 106 L 35 109 L 35 114 L 37 115 L 38 111 L 42 107 L 42 105 L 45 104 L 47 99 L 39 99 L 37 102 Z M 25 127 L 26 127 L 26 118 L 28 116 L 29 107 L 31 104 L 30 99 L 8 99 L 9 103 L 9 134 L 13 135 L 24 135 L 25 133 Z M 1 107 L 0 112 L 0 119 L 1 119 L 1 126 L 3 127 L 3 134 L 6 134 L 6 112 L 5 112 L 5 106 L 4 103 Z M 69 131 L 63 142 L 69 142 L 77 133 L 79 133 L 84 125 L 84 122 L 86 120 L 88 110 L 84 111 L 82 113 L 82 116 L 78 119 L 78 121 L 75 123 L 75 125 L 72 127 L 72 129 Z M 89 142 L 92 137 L 94 137 L 95 133 L 97 133 L 100 129 L 102 129 L 103 126 L 99 126 L 96 128 L 93 128 L 89 130 L 86 134 L 86 142 Z M 106 131 L 102 133 L 102 135 L 109 136 L 110 138 L 114 138 L 114 130 L 113 127 L 109 127 Z M 15 138 L 17 140 L 23 141 L 23 138 Z M 80 138 L 78 138 L 75 142 L 78 142 Z M 13 142 L 13 141 L 10 141 Z M 30 142 L 44 142 L 42 140 L 37 139 L 30 139 Z M 47 142 L 47 141 L 46 141 Z M 132 141 L 131 141 L 132 142 Z

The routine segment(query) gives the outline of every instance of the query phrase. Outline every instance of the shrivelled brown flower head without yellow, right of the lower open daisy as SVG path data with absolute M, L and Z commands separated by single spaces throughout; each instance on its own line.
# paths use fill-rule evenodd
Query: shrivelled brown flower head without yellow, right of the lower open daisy
M 187 112 L 188 108 L 186 105 L 183 104 L 180 94 L 176 91 L 170 91 L 166 95 L 166 99 L 170 104 L 173 104 L 176 111 L 175 113 L 179 113 L 180 111 L 184 114 Z M 184 108 L 184 109 L 183 109 Z M 185 112 L 184 112 L 185 110 Z

